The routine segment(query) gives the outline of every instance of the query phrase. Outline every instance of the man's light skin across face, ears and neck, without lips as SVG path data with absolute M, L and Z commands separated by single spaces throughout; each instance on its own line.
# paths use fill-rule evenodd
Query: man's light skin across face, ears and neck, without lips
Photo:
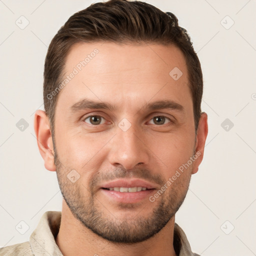
M 85 252 L 86 255 L 175 255 L 174 214 L 185 197 L 191 174 L 197 172 L 202 161 L 207 136 L 206 113 L 201 114 L 195 132 L 184 56 L 173 45 L 77 43 L 67 56 L 65 74 L 94 48 L 99 53 L 59 92 L 55 148 L 45 112 L 37 110 L 34 118 L 44 166 L 57 172 L 64 197 L 56 243 L 65 256 L 85 255 Z M 169 75 L 174 67 L 183 73 L 176 81 Z M 70 107 L 85 97 L 108 102 L 116 109 L 71 111 Z M 183 110 L 144 108 L 146 103 L 158 100 L 172 100 Z M 92 124 L 89 115 L 101 116 L 100 124 Z M 159 124 L 154 118 L 157 116 L 166 118 Z M 123 118 L 131 125 L 126 131 L 118 126 Z M 195 152 L 200 155 L 154 202 L 147 196 L 139 202 L 120 203 L 100 188 L 107 180 L 136 177 L 153 183 L 155 189 L 150 195 L 154 195 Z M 67 179 L 72 169 L 80 175 L 74 183 Z M 99 217 L 101 225 L 97 220 L 93 222 L 92 216 Z M 101 233 L 92 231 L 86 223 Z M 154 224 L 160 230 L 153 229 Z M 131 240 L 140 237 L 141 241 L 114 242 L 104 237 L 106 230 L 123 232 Z M 149 231 L 154 235 L 141 238 Z

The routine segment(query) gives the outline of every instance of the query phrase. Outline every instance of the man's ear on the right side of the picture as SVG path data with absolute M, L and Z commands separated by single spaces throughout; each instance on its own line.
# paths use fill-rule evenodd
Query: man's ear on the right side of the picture
M 197 156 L 197 158 L 194 157 L 195 161 L 193 164 L 192 174 L 198 171 L 199 164 L 202 161 L 204 145 L 205 145 L 207 134 L 208 134 L 207 114 L 205 112 L 202 112 L 198 122 L 197 132 L 196 132 L 195 156 Z

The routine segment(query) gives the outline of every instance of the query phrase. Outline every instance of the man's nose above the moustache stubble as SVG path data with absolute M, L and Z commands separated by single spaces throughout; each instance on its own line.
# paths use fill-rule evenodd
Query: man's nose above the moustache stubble
M 108 151 L 108 160 L 112 165 L 132 169 L 138 164 L 148 164 L 150 150 L 143 132 L 133 126 L 126 131 L 120 129 L 113 137 Z

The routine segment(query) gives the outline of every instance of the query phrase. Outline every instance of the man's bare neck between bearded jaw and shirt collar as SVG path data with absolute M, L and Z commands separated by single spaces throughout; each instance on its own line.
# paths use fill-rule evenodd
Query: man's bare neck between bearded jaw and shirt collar
M 173 248 L 174 216 L 153 237 L 134 243 L 124 244 L 108 241 L 93 233 L 77 220 L 63 200 L 61 222 L 56 243 L 64 256 L 84 255 L 127 255 L 175 256 Z

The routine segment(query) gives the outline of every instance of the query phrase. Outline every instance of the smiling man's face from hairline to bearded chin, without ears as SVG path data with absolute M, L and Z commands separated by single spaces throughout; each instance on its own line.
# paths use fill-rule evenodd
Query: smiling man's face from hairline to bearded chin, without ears
M 94 48 L 98 53 L 79 70 Z M 174 67 L 182 72 L 177 80 L 169 74 Z M 55 108 L 62 195 L 73 215 L 100 236 L 145 240 L 175 214 L 198 167 L 195 159 L 172 179 L 195 153 L 185 59 L 173 45 L 84 43 L 72 46 L 65 75 L 74 68 L 78 73 L 59 92 Z

